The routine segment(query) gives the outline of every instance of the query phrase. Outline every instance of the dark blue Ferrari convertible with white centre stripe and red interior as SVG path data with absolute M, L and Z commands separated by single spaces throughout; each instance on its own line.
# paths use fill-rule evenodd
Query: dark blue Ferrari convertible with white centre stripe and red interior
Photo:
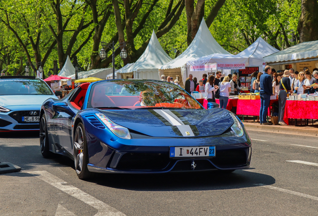
M 115 79 L 83 83 L 40 111 L 40 148 L 92 172 L 163 173 L 249 168 L 251 141 L 222 108 L 204 109 L 173 83 Z

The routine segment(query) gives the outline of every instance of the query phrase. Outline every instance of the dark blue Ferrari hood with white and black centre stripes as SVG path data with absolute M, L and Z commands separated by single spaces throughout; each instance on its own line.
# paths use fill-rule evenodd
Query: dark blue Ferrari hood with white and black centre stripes
M 229 112 L 221 108 L 100 111 L 131 132 L 156 137 L 220 135 L 234 123 Z

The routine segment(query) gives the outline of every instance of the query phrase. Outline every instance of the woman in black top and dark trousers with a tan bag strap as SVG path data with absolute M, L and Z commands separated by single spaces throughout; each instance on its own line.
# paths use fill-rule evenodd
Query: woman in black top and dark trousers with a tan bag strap
M 278 123 L 280 125 L 287 125 L 284 122 L 284 111 L 285 111 L 285 103 L 288 92 L 291 93 L 290 87 L 290 72 L 289 70 L 285 70 L 279 84 L 279 93 L 278 93 Z

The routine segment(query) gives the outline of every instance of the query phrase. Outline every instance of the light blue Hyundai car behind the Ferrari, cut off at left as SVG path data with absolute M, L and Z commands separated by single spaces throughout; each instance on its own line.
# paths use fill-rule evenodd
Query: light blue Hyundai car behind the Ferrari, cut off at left
M 34 76 L 0 76 L 0 132 L 39 130 L 39 111 L 47 98 L 57 97 Z

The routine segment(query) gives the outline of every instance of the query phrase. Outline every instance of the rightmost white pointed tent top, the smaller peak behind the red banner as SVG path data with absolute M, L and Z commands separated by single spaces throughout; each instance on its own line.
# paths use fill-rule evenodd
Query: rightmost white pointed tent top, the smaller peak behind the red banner
M 249 66 L 261 66 L 263 57 L 279 51 L 269 45 L 263 38 L 258 37 L 255 42 L 248 46 L 236 56 L 248 58 Z

